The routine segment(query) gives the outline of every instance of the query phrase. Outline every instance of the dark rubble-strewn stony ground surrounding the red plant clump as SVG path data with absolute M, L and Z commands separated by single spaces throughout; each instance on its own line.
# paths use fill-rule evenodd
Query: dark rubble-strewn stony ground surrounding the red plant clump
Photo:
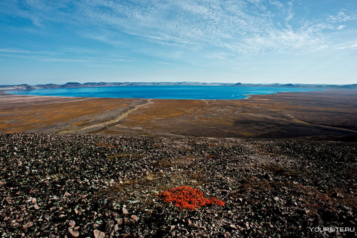
M 0 134 L 1 237 L 354 237 L 357 143 Z M 181 210 L 186 185 L 224 206 Z

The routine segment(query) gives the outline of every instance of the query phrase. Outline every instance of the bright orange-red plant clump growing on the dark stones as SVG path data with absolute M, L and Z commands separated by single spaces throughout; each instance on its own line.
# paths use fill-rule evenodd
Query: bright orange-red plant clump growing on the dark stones
M 176 207 L 196 209 L 197 207 L 203 207 L 207 204 L 225 205 L 224 202 L 217 200 L 214 197 L 210 199 L 203 197 L 203 192 L 197 188 L 191 188 L 188 186 L 180 186 L 166 190 L 158 195 L 164 202 L 175 203 Z

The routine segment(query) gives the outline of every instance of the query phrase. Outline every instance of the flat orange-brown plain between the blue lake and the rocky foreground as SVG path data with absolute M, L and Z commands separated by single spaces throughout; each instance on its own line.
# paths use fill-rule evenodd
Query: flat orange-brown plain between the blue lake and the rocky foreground
M 0 95 L 0 132 L 356 141 L 357 90 L 239 100 Z

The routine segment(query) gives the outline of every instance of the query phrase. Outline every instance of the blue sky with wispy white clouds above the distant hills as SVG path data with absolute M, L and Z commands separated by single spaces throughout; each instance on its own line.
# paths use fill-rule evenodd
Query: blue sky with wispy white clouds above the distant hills
M 352 84 L 356 62 L 356 0 L 0 1 L 0 84 Z

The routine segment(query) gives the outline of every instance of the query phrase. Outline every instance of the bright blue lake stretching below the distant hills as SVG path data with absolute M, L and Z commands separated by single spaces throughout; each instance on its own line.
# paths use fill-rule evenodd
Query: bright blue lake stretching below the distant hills
M 307 92 L 319 89 L 242 86 L 112 86 L 91 88 L 52 88 L 8 91 L 12 94 L 99 98 L 161 99 L 243 99 L 251 94 Z

